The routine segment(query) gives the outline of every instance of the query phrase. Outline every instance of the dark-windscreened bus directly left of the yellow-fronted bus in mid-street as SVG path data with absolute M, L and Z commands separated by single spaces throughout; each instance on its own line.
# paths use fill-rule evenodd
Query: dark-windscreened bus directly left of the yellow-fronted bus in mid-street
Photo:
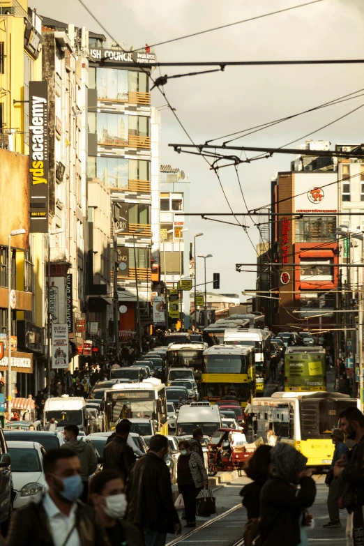
M 172 367 L 188 367 L 193 371 L 195 381 L 199 381 L 206 343 L 172 343 L 168 347 L 166 377 Z

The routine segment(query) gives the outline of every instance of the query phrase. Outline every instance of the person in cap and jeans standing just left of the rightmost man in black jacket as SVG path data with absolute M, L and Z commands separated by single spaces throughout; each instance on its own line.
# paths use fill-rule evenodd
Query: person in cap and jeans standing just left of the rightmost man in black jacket
M 329 487 L 327 508 L 328 517 L 330 518 L 330 521 L 324 525 L 326 528 L 341 527 L 338 500 L 344 490 L 344 482 L 339 478 L 334 478 L 333 469 L 336 461 L 344 460 L 345 463 L 349 462 L 349 448 L 344 443 L 344 432 L 342 432 L 339 428 L 334 428 L 331 439 L 335 446 L 335 450 L 333 454 L 333 462 L 331 462 L 331 467 L 326 474 L 325 480 L 325 483 L 328 484 Z

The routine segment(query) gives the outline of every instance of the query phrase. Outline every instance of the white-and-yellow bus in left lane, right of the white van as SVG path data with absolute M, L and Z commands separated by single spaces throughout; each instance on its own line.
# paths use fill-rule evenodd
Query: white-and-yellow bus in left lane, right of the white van
M 105 390 L 105 427 L 114 430 L 120 419 L 153 419 L 159 434 L 168 434 L 165 385 L 119 383 Z

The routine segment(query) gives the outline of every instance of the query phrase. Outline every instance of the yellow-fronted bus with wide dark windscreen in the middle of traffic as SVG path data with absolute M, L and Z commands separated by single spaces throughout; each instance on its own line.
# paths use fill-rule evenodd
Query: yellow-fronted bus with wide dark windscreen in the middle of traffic
M 235 393 L 242 407 L 255 396 L 253 347 L 214 345 L 204 351 L 200 398 L 213 404 Z

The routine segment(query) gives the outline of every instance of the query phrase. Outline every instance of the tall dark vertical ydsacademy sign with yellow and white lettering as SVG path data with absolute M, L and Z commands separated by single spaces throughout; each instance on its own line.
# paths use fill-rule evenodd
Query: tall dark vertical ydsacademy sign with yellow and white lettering
M 48 233 L 48 83 L 29 82 L 30 233 Z

